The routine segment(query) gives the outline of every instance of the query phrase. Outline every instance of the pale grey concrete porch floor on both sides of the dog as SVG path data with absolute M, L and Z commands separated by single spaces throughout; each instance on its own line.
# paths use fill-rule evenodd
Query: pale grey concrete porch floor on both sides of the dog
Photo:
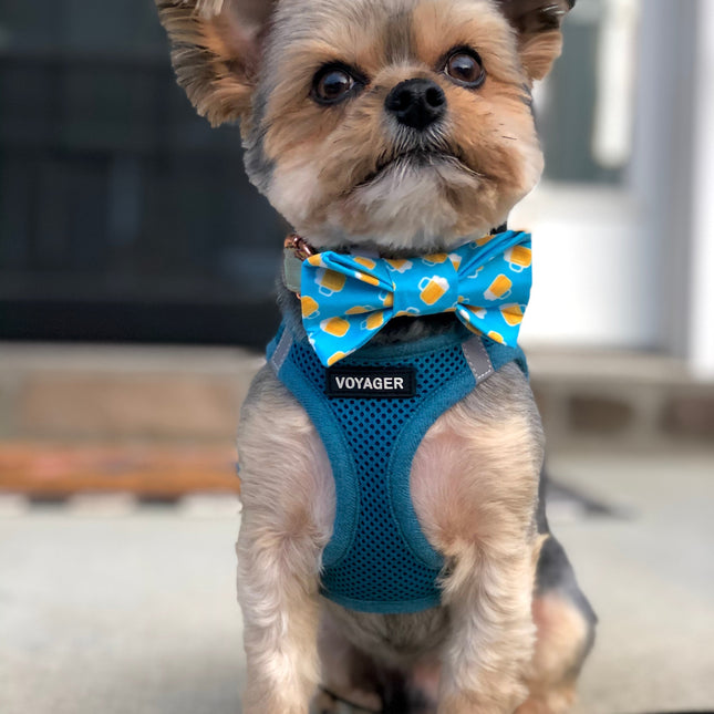
M 555 524 L 601 619 L 578 712 L 714 708 L 714 454 L 551 470 L 622 514 Z M 237 714 L 237 511 L 0 499 L 0 712 Z

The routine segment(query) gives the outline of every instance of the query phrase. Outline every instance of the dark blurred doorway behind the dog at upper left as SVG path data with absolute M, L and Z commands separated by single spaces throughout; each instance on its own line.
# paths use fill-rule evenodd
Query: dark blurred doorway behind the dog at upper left
M 0 339 L 262 345 L 284 227 L 152 0 L 0 9 Z

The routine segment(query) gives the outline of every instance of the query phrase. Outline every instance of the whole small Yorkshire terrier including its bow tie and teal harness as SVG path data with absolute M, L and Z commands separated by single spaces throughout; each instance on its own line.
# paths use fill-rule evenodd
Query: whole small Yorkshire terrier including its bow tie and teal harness
M 179 83 L 294 228 L 239 426 L 244 714 L 573 701 L 596 618 L 545 516 L 505 227 L 573 4 L 157 0 Z

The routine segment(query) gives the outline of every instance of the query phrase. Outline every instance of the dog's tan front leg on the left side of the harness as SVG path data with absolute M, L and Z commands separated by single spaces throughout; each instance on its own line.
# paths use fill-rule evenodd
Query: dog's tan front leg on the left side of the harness
M 320 674 L 320 559 L 334 518 L 329 461 L 307 415 L 269 370 L 244 406 L 238 448 L 242 711 L 307 714 Z

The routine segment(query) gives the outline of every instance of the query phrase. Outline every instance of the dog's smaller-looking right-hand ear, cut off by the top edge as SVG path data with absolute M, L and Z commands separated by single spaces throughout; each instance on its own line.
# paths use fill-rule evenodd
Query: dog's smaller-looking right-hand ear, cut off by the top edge
M 576 0 L 497 0 L 518 31 L 520 59 L 528 76 L 542 80 L 562 50 L 560 25 Z

